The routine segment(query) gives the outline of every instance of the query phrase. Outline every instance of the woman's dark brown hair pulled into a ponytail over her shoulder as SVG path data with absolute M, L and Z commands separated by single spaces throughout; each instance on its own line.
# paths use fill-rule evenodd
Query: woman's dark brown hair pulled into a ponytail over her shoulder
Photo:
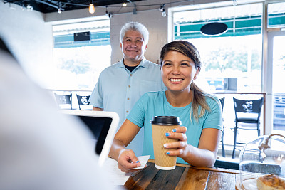
M 195 46 L 188 41 L 172 41 L 165 44 L 162 50 L 160 51 L 160 67 L 162 67 L 163 59 L 165 58 L 166 53 L 169 51 L 177 51 L 182 53 L 184 56 L 187 56 L 195 63 L 195 68 L 201 68 L 202 62 L 199 56 L 199 52 Z M 192 99 L 192 112 L 195 120 L 198 120 L 199 117 L 202 117 L 206 110 L 210 111 L 209 105 L 207 105 L 205 96 L 209 96 L 203 90 L 201 90 L 195 83 L 191 83 L 190 88 L 192 90 L 193 99 Z M 201 112 L 198 115 L 199 106 L 201 106 Z M 190 117 L 191 118 L 191 117 Z

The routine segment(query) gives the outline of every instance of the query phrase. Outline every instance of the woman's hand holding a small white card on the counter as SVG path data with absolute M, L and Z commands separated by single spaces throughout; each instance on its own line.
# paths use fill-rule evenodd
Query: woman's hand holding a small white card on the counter
M 132 169 L 140 167 L 140 162 L 131 149 L 122 149 L 118 157 L 118 168 L 123 172 L 134 172 L 140 169 Z

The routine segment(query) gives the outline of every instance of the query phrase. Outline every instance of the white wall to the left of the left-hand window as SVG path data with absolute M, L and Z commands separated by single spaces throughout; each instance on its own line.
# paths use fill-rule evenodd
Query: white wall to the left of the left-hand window
M 50 87 L 53 75 L 51 25 L 44 14 L 22 10 L 21 6 L 0 2 L 0 36 L 26 73 L 43 87 Z

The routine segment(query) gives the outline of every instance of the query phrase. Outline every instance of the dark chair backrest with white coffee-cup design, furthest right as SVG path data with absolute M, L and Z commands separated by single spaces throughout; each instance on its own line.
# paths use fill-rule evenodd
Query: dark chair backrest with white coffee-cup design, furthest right
M 264 103 L 264 97 L 261 97 L 261 99 L 258 100 L 239 100 L 233 97 L 233 100 L 235 112 L 250 112 L 258 113 L 259 115 Z

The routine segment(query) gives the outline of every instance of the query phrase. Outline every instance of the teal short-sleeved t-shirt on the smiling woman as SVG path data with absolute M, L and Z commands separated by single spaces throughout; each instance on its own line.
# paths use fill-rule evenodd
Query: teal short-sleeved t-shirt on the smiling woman
M 199 145 L 202 129 L 215 128 L 222 130 L 222 108 L 219 99 L 214 96 L 212 98 L 205 96 L 205 98 L 211 111 L 206 110 L 205 114 L 197 122 L 194 117 L 190 119 L 192 103 L 185 107 L 173 107 L 167 102 L 165 91 L 150 92 L 142 95 L 127 116 L 127 119 L 138 125 L 138 127 L 145 127 L 142 155 L 150 155 L 150 159 L 154 159 L 152 126 L 150 123 L 154 116 L 180 117 L 181 126 L 187 127 L 187 144 L 191 144 L 194 147 Z M 179 157 L 177 157 L 177 163 L 187 164 Z

